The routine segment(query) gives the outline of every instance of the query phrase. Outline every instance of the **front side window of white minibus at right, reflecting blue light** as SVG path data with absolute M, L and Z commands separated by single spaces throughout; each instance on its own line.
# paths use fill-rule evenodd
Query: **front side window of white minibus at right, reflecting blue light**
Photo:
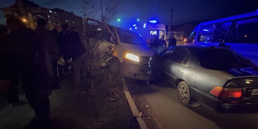
M 213 37 L 215 35 L 216 27 L 217 27 L 217 24 L 201 26 L 198 32 L 197 41 L 212 42 Z

